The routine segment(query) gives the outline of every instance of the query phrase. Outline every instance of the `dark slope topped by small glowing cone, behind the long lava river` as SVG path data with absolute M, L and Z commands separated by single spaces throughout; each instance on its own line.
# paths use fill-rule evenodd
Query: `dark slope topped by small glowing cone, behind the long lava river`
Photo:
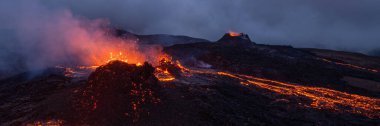
M 324 62 L 320 60 L 323 57 L 291 46 L 248 44 L 248 40 L 237 37 L 226 34 L 217 42 L 174 45 L 164 51 L 192 67 L 202 67 L 203 63 L 212 69 L 380 97 L 342 80 L 350 75 L 380 81 L 380 74 Z

